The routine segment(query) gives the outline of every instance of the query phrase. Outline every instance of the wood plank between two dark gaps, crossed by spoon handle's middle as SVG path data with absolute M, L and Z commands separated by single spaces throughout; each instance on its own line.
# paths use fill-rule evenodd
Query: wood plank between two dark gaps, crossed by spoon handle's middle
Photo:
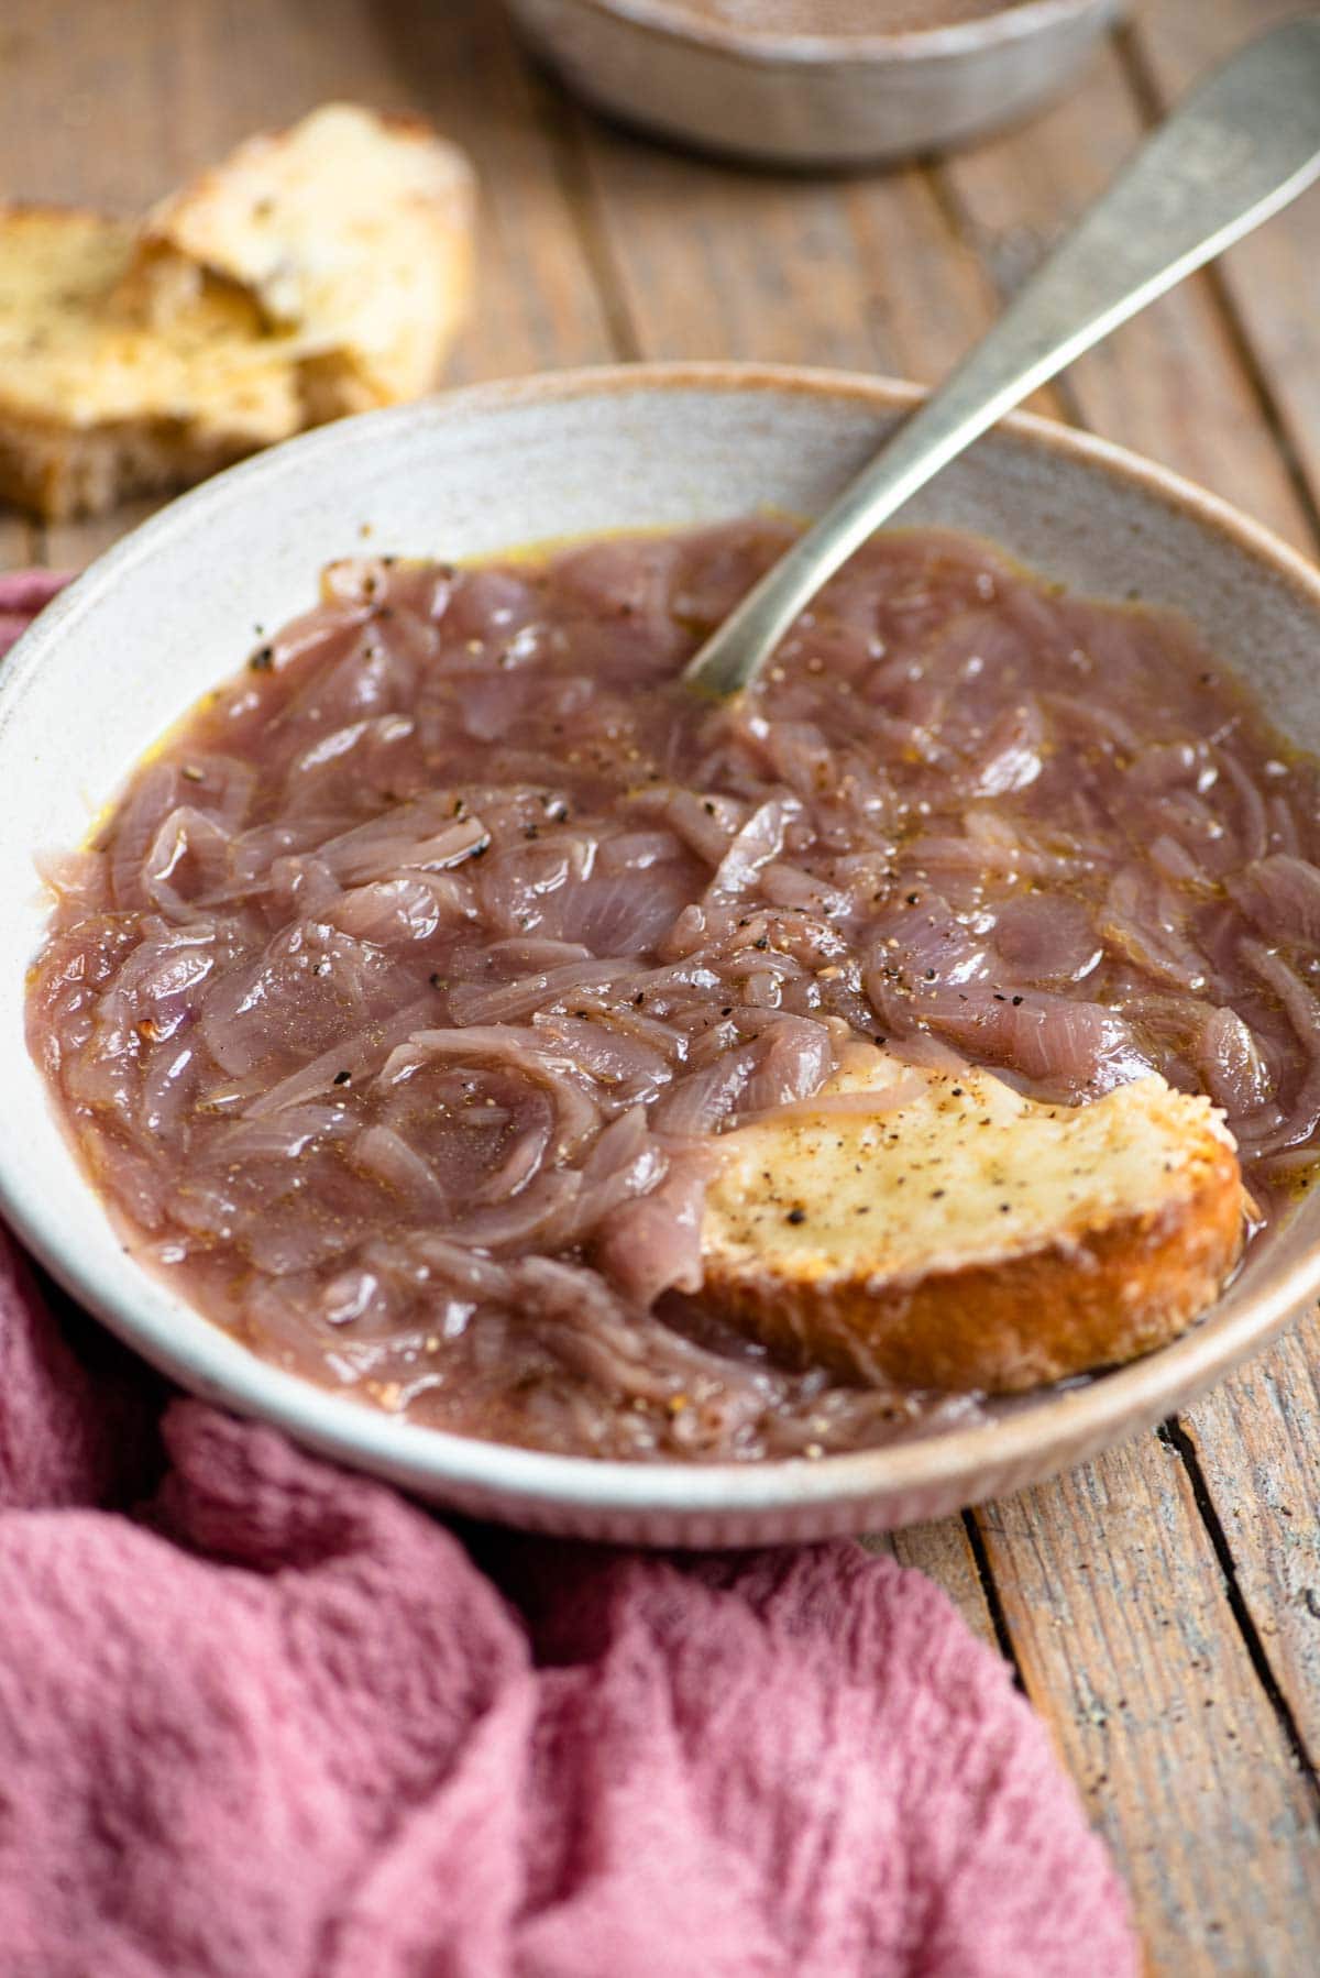
M 1025 131 L 944 166 L 968 237 L 1005 295 L 1108 184 L 1142 131 L 1110 47 L 1086 89 Z M 1288 542 L 1310 542 L 1310 514 L 1205 277 L 1183 283 L 1073 364 L 1065 390 L 1081 423 L 1096 433 L 1189 475 Z

